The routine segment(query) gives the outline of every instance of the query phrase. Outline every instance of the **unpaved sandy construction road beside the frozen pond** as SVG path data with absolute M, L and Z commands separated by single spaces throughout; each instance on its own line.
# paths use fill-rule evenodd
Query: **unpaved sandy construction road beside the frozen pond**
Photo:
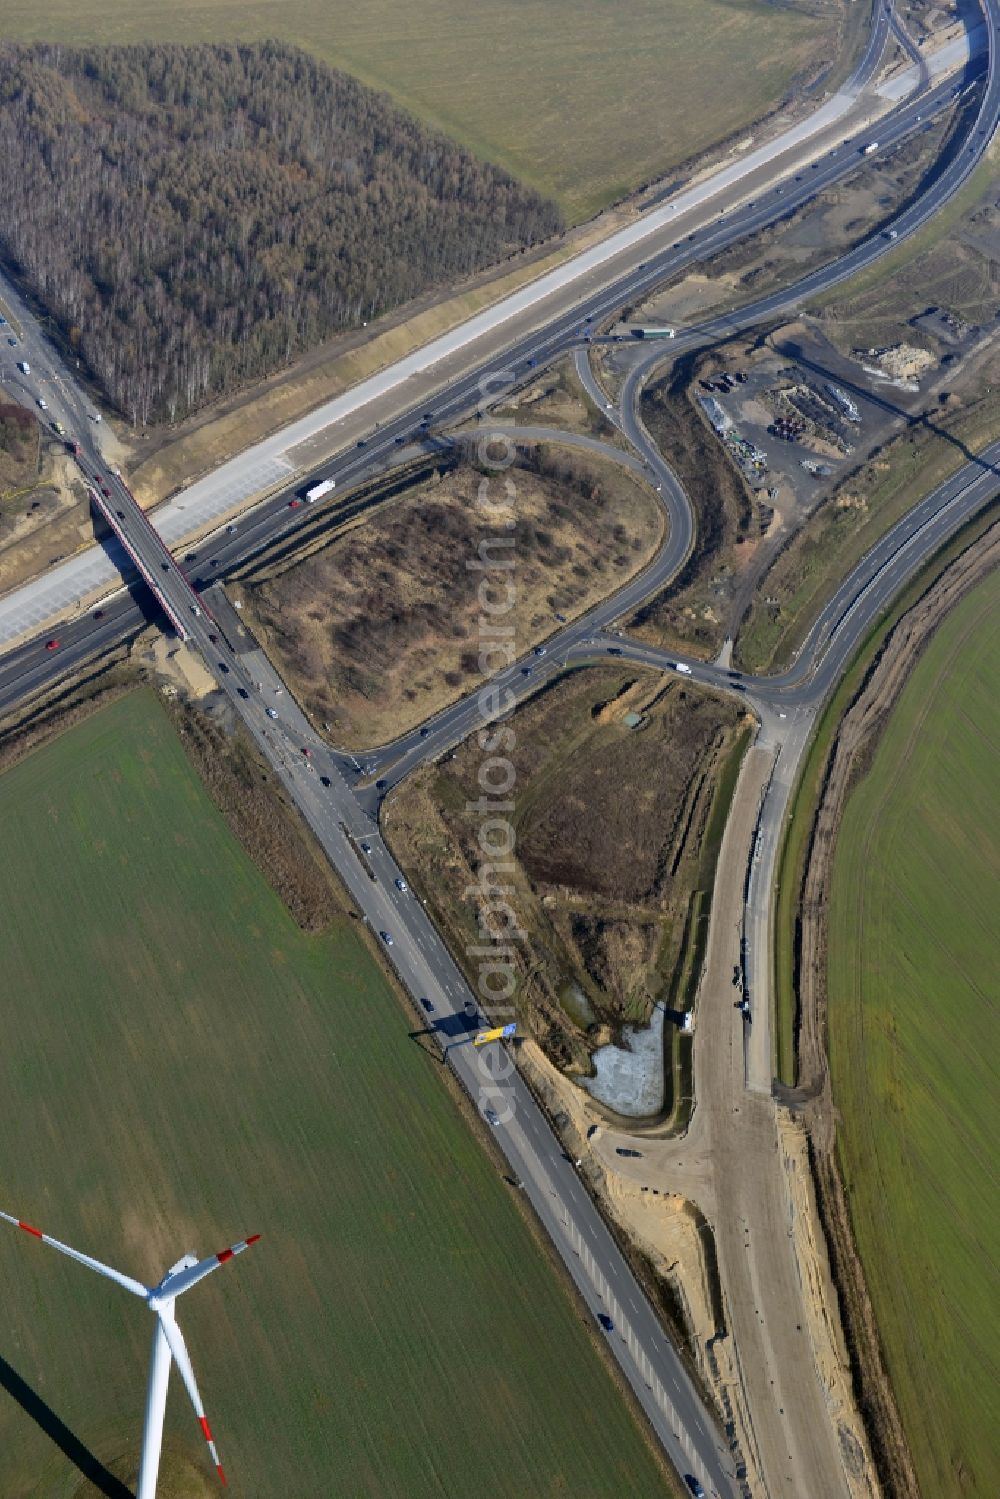
M 697 1004 L 688 1132 L 658 1139 L 601 1130 L 592 1148 L 610 1175 L 681 1193 L 712 1226 L 753 1493 L 859 1499 L 879 1489 L 853 1406 L 805 1135 L 784 1106 L 747 1090 L 732 983 L 747 860 L 772 764 L 765 736 L 747 754 L 726 829 Z M 622 1159 L 621 1145 L 642 1156 Z

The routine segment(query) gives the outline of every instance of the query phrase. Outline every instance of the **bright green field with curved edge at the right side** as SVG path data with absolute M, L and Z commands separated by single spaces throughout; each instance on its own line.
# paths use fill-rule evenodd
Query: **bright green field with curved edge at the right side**
M 855 1234 L 921 1490 L 996 1444 L 1000 574 L 945 621 L 841 826 L 829 1040 Z

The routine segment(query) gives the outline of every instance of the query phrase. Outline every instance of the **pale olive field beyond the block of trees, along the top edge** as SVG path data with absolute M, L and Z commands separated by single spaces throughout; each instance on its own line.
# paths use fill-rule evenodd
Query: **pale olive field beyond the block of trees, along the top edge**
M 861 7 L 858 7 L 861 9 Z M 558 198 L 570 219 L 759 118 L 832 54 L 765 0 L 6 0 L 16 40 L 309 48 Z

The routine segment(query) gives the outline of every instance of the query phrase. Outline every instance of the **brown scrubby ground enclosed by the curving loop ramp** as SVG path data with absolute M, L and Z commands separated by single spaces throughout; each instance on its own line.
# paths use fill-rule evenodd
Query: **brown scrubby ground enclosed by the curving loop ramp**
M 504 622 L 520 654 L 556 612 L 577 615 L 639 571 L 664 522 L 655 495 L 610 460 L 538 448 L 505 477 L 516 597 Z M 384 744 L 480 685 L 483 573 L 468 564 L 496 534 L 477 508 L 481 483 L 459 465 L 246 586 L 249 624 L 334 742 Z

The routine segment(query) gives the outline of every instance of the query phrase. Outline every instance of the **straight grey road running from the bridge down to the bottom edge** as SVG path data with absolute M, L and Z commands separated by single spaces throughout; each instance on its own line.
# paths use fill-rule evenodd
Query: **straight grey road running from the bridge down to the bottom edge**
M 195 636 L 208 663 L 216 663 L 219 685 L 382 941 L 387 959 L 414 998 L 429 1043 L 435 1051 L 438 1045 L 445 1049 L 483 1117 L 492 1114 L 493 1135 L 511 1175 L 583 1301 L 595 1319 L 600 1313 L 610 1316 L 609 1346 L 666 1453 L 681 1472 L 697 1475 L 706 1490 L 738 1493 L 732 1459 L 714 1418 L 507 1049 L 472 1045 L 486 1016 L 423 905 L 405 889 L 378 826 L 358 806 L 271 663 L 241 634 L 240 618 L 222 591 L 213 591 L 205 603 L 214 618 L 210 625 L 208 616 L 196 619 Z M 207 640 L 210 628 L 214 642 Z

